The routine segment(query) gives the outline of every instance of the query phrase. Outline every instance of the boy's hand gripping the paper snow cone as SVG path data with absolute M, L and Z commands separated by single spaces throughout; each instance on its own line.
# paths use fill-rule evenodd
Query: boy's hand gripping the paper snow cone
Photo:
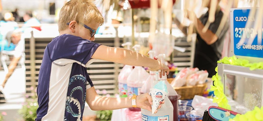
M 136 106 L 138 108 L 146 109 L 151 112 L 152 104 L 153 100 L 148 93 L 144 93 L 136 97 Z M 162 104 L 164 104 L 164 101 L 159 105 L 157 109 L 160 109 Z M 157 113 L 157 110 L 154 113 Z

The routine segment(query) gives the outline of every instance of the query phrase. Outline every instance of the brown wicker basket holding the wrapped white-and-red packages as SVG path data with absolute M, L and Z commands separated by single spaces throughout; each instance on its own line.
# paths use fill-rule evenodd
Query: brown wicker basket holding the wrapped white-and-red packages
M 169 83 L 173 81 L 172 78 L 167 79 Z M 181 100 L 193 99 L 195 95 L 203 96 L 206 84 L 199 84 L 195 86 L 174 87 L 178 95 L 181 95 Z

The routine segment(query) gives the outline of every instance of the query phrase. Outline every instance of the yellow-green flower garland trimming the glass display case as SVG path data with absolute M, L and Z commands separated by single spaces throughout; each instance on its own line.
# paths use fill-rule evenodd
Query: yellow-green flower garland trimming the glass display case
M 263 69 L 263 62 L 259 63 L 249 63 L 246 59 L 237 58 L 236 56 L 224 57 L 217 63 L 237 65 L 243 67 L 249 67 L 250 70 Z M 214 103 L 218 103 L 218 106 L 231 110 L 231 106 L 228 104 L 226 95 L 224 94 L 224 86 L 221 82 L 221 77 L 218 76 L 218 67 L 215 68 L 216 75 L 213 75 L 212 80 L 214 85 L 211 85 L 211 91 L 214 91 L 215 97 L 213 99 Z M 245 114 L 237 114 L 235 118 L 229 119 L 229 121 L 263 121 L 263 107 L 255 107 L 252 111 L 248 111 Z

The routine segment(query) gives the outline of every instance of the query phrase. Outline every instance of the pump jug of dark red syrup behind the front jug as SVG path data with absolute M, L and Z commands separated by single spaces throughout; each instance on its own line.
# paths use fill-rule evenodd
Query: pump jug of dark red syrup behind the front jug
M 158 59 L 158 58 L 161 59 L 161 63 L 165 64 L 165 54 L 159 54 L 158 56 L 155 57 L 155 59 Z M 169 92 L 168 98 L 172 102 L 173 107 L 174 107 L 174 111 L 173 111 L 174 121 L 178 121 L 178 94 L 176 93 L 174 88 L 168 83 L 166 73 L 165 73 L 165 76 L 162 76 L 162 78 L 160 78 L 159 76 L 159 81 L 165 81 L 167 90 Z

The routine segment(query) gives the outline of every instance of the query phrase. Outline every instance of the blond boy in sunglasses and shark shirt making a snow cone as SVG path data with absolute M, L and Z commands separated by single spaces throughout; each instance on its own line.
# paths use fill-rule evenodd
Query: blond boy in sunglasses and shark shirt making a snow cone
M 103 22 L 99 10 L 88 0 L 72 0 L 63 6 L 58 20 L 60 35 L 45 48 L 39 71 L 36 121 L 82 120 L 85 102 L 92 110 L 132 107 L 132 97 L 112 98 L 96 93 L 86 68 L 96 59 L 149 67 L 152 71 L 161 70 L 161 75 L 169 73 L 167 66 L 140 53 L 94 43 L 94 34 Z M 136 96 L 135 102 L 136 107 L 151 111 L 149 94 Z

